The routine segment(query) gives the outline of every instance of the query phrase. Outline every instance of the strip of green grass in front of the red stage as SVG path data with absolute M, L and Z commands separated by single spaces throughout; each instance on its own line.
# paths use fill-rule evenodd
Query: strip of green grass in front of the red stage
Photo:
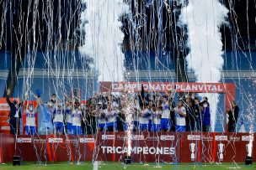
M 120 162 L 107 162 L 107 163 L 100 163 L 97 166 L 93 166 L 91 162 L 83 162 L 82 164 L 77 165 L 76 163 L 67 164 L 67 162 L 58 162 L 56 164 L 35 164 L 33 162 L 25 162 L 21 166 L 13 166 L 12 163 L 7 164 L 1 164 L 0 170 L 45 170 L 45 169 L 51 169 L 51 170 L 117 170 L 117 169 L 124 169 L 124 170 L 227 170 L 227 169 L 245 169 L 245 170 L 255 170 L 256 165 L 253 164 L 252 166 L 245 166 L 243 163 L 237 163 L 235 165 L 234 163 L 225 163 L 225 164 L 203 164 L 203 165 L 194 165 L 194 164 L 180 164 L 180 165 L 168 165 L 168 164 L 160 164 L 160 167 L 156 167 L 156 164 L 138 164 L 133 163 L 131 165 L 124 165 Z

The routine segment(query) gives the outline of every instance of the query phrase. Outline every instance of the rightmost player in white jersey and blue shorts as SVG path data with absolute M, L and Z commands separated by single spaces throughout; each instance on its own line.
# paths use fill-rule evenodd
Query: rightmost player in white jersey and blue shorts
M 175 107 L 176 115 L 176 131 L 186 131 L 186 109 L 183 106 L 183 102 L 179 100 L 178 106 Z

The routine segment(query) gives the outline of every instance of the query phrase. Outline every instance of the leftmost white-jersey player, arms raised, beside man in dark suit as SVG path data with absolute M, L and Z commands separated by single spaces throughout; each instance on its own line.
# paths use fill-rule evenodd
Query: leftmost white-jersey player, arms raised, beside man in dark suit
M 25 126 L 26 135 L 35 135 L 36 133 L 35 114 L 36 114 L 37 108 L 38 108 L 38 103 L 36 103 L 36 106 L 34 107 L 33 103 L 29 103 L 29 101 L 27 101 L 26 106 L 24 106 L 24 113 L 26 114 L 26 126 Z

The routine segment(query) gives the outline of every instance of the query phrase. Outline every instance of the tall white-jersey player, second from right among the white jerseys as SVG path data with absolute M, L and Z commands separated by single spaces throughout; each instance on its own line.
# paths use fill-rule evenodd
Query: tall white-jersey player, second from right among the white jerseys
M 169 102 L 168 102 L 168 96 L 163 95 L 163 113 L 161 118 L 161 131 L 168 131 L 169 130 L 169 119 L 170 119 L 170 109 L 169 109 Z

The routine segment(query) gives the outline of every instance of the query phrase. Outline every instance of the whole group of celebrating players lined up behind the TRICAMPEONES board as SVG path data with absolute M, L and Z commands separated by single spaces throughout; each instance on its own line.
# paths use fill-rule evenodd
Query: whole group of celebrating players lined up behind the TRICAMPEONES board
M 35 114 L 42 113 L 40 130 L 46 134 L 82 135 L 97 131 L 210 131 L 210 106 L 195 94 L 180 97 L 177 106 L 168 94 L 93 95 L 86 102 L 57 100 L 55 94 L 44 103 L 24 102 L 25 131 L 34 135 Z M 27 96 L 25 96 L 27 100 Z M 26 103 L 26 104 L 25 104 Z M 41 111 L 38 111 L 39 108 Z

